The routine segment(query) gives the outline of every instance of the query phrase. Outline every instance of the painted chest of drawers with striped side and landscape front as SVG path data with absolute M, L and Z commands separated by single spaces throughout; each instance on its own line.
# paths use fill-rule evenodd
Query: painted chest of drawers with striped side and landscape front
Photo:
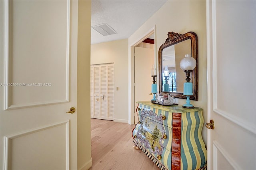
M 203 109 L 137 102 L 134 145 L 162 170 L 206 169 Z

